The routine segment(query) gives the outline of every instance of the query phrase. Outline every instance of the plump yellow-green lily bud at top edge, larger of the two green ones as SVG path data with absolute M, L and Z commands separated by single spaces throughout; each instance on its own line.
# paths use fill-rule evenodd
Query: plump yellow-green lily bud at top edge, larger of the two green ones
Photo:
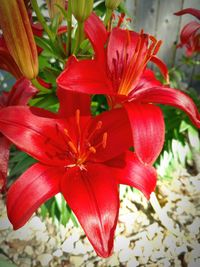
M 93 0 L 73 0 L 72 13 L 78 22 L 84 22 L 92 13 Z

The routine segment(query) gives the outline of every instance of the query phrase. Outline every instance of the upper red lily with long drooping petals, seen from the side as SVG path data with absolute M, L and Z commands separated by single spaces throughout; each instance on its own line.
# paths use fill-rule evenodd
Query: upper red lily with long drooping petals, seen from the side
M 132 127 L 134 149 L 141 161 L 153 163 L 164 143 L 163 114 L 153 103 L 182 109 L 200 127 L 200 115 L 193 101 L 179 90 L 163 86 L 146 68 L 151 60 L 167 78 L 166 66 L 155 56 L 160 42 L 144 33 L 118 28 L 108 38 L 103 23 L 94 14 L 86 21 L 85 31 L 95 58 L 81 61 L 71 58 L 57 83 L 66 90 L 105 94 L 111 108 L 123 105 Z

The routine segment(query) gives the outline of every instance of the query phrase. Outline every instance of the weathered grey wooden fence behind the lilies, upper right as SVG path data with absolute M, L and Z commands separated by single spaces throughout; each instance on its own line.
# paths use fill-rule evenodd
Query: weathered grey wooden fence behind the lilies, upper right
M 175 16 L 173 13 L 183 8 L 200 9 L 200 0 L 126 0 L 129 15 L 133 18 L 134 30 L 139 32 L 144 29 L 158 40 L 163 40 L 163 45 L 158 56 L 165 61 L 168 67 L 180 63 L 180 58 L 185 55 L 185 49 L 177 49 L 180 31 L 183 26 L 195 18 L 191 15 Z M 200 73 L 200 66 L 194 68 L 183 67 L 186 72 L 186 82 L 194 84 L 194 75 Z

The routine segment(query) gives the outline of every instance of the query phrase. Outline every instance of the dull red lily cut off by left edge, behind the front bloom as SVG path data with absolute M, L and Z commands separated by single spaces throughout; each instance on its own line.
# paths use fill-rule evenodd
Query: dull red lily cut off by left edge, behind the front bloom
M 32 86 L 31 82 L 22 78 L 15 83 L 10 92 L 2 92 L 0 110 L 8 106 L 26 105 L 36 93 L 37 89 Z M 10 145 L 10 141 L 0 133 L 0 192 L 6 188 Z

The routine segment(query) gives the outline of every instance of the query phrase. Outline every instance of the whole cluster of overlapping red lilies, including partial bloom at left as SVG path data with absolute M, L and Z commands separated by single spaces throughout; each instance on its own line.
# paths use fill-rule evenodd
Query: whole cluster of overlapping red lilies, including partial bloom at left
M 107 32 L 95 14 L 86 20 L 85 34 L 94 59 L 69 58 L 57 78 L 57 113 L 25 106 L 36 93 L 25 79 L 1 96 L 0 183 L 5 187 L 12 142 L 38 161 L 7 192 L 14 229 L 61 192 L 95 251 L 108 257 L 118 219 L 119 184 L 133 186 L 147 198 L 156 186 L 152 165 L 165 134 L 157 104 L 185 111 L 198 128 L 200 115 L 186 94 L 162 85 L 147 68 L 149 61 L 156 64 L 168 84 L 167 67 L 156 56 L 161 41 L 143 31 L 114 28 Z M 4 50 L 2 55 L 7 53 Z M 21 75 L 9 64 L 2 66 L 17 78 Z M 104 94 L 110 110 L 92 116 L 90 94 Z

